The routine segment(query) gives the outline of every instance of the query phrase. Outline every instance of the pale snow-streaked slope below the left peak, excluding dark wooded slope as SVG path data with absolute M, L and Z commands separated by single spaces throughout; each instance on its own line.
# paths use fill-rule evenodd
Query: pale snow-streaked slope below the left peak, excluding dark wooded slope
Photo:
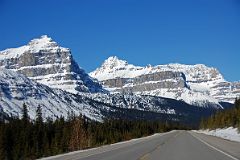
M 8 115 L 21 116 L 23 103 L 28 106 L 32 119 L 39 105 L 43 109 L 45 118 L 67 117 L 71 112 L 95 120 L 101 120 L 103 117 L 99 108 L 93 107 L 84 99 L 77 99 L 68 92 L 36 83 L 17 72 L 0 69 L 1 110 Z

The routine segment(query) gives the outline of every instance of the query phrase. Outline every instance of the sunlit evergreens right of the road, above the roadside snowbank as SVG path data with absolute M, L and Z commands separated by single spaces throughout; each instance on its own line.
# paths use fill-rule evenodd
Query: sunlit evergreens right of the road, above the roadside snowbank
M 237 127 L 240 131 L 240 99 L 235 100 L 233 108 L 218 111 L 200 123 L 201 129 L 225 127 Z

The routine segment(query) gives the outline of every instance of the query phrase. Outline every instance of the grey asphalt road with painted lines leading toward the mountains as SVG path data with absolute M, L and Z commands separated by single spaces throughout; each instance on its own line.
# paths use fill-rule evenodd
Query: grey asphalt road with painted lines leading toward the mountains
M 172 131 L 129 142 L 45 158 L 45 160 L 238 160 L 240 143 Z

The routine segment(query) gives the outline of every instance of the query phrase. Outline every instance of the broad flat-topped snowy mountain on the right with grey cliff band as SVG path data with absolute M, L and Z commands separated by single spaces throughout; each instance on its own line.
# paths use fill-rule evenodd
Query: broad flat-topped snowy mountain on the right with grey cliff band
M 240 96 L 239 82 L 227 82 L 216 68 L 203 64 L 140 67 L 115 56 L 105 60 L 90 76 L 112 92 L 161 96 L 199 106 L 208 102 L 232 103 Z

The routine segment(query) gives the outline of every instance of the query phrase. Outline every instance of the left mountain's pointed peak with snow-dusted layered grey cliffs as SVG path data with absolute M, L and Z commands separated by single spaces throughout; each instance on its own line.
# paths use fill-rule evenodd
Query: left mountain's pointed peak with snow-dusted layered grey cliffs
M 103 91 L 101 85 L 74 61 L 70 49 L 60 47 L 47 36 L 33 39 L 19 48 L 1 51 L 0 66 L 72 93 Z

